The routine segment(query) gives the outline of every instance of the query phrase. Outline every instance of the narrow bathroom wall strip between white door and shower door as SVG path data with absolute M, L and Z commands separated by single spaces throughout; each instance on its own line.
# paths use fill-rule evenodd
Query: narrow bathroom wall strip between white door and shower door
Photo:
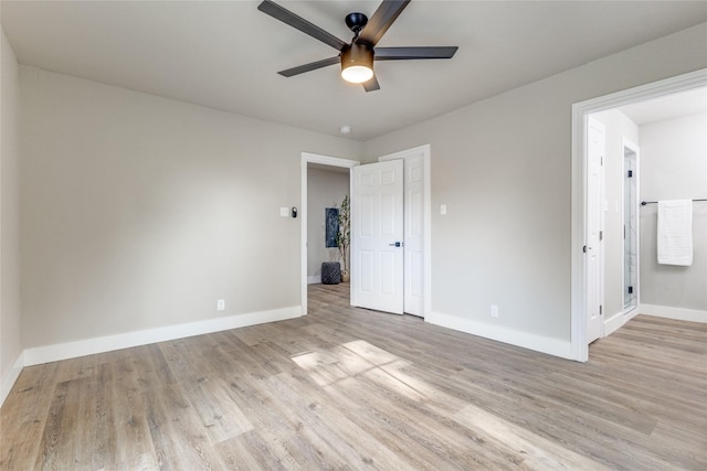
M 604 319 L 623 312 L 623 138 L 639 146 L 639 126 L 612 109 L 593 118 L 606 127 L 604 159 Z

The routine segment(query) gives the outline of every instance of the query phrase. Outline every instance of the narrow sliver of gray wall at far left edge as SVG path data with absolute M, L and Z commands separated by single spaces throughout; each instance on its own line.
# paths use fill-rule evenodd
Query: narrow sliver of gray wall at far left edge
M 2 32 L 0 49 L 0 404 L 12 365 L 22 352 L 19 248 L 19 71 Z

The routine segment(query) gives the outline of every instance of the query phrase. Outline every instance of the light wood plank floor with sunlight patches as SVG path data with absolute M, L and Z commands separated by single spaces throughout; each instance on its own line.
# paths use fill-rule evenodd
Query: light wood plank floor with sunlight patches
M 0 469 L 705 470 L 707 327 L 553 358 L 347 306 L 25 368 Z

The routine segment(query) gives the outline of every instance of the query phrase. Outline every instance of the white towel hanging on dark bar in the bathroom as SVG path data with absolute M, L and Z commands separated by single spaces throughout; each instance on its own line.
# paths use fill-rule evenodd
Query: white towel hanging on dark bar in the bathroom
M 693 265 L 693 201 L 658 201 L 658 264 Z

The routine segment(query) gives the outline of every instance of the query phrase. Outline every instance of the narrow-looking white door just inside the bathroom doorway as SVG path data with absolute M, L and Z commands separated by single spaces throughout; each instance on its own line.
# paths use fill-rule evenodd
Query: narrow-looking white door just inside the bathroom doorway
M 601 336 L 604 290 L 602 237 L 604 125 L 587 118 L 587 343 Z

